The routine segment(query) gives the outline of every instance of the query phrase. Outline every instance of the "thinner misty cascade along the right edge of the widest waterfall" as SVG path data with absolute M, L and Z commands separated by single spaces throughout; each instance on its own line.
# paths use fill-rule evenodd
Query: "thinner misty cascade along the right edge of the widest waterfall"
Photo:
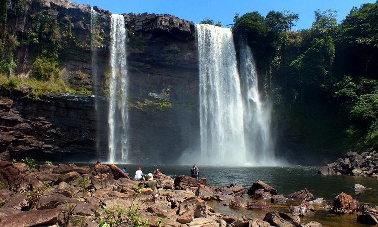
M 240 78 L 244 104 L 244 132 L 248 161 L 253 165 L 279 165 L 271 136 L 271 105 L 260 97 L 258 74 L 252 51 L 240 42 Z

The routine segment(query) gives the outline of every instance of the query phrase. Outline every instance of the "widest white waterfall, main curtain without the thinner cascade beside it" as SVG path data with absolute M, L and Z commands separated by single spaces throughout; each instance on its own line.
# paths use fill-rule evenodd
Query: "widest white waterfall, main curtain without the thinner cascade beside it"
M 207 24 L 196 25 L 196 31 L 202 164 L 244 165 L 243 103 L 232 32 Z

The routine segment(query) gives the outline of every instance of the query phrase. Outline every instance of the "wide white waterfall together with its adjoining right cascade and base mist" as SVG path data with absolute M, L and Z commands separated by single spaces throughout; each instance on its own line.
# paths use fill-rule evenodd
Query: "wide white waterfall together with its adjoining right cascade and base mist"
M 240 74 L 230 29 L 197 24 L 200 70 L 201 149 L 185 151 L 180 163 L 282 166 L 271 138 L 271 108 L 258 90 L 253 54 L 240 45 Z

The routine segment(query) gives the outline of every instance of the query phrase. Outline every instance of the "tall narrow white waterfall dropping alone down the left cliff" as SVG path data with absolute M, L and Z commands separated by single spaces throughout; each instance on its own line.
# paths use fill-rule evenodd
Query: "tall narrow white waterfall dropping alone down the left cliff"
M 127 163 L 129 152 L 128 70 L 126 39 L 122 15 L 111 15 L 109 78 L 109 157 L 110 163 Z

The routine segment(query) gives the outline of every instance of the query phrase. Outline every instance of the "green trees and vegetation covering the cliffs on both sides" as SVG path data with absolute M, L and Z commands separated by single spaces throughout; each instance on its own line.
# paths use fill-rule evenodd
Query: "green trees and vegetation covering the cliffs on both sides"
M 0 94 L 14 89 L 38 95 L 59 91 L 64 48 L 79 45 L 68 25 L 47 11 L 33 15 L 33 29 L 20 40 L 7 26 L 24 13 L 25 0 L 0 0 Z M 35 2 L 33 0 L 32 2 Z M 272 100 L 278 139 L 327 154 L 365 151 L 378 143 L 378 2 L 353 8 L 337 23 L 336 11 L 315 11 L 311 28 L 292 30 L 299 17 L 290 11 L 235 14 L 232 31 L 255 53 L 260 86 Z M 204 23 L 211 23 L 211 20 Z M 20 43 L 34 46 L 29 87 L 15 74 Z M 45 81 L 55 84 L 46 88 Z M 88 93 L 86 88 L 66 91 Z M 281 142 L 282 142 L 281 141 Z M 289 143 L 289 142 L 287 142 Z

